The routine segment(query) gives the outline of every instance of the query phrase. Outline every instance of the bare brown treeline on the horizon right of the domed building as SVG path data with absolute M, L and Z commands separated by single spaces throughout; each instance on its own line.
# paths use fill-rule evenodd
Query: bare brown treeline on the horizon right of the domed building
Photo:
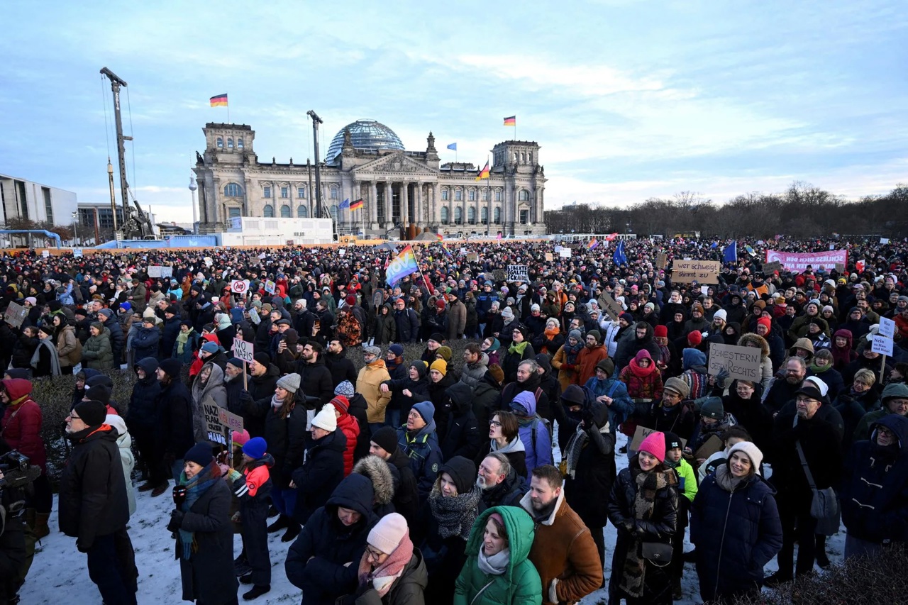
M 650 198 L 626 207 L 587 203 L 546 211 L 548 233 L 637 233 L 769 238 L 829 237 L 832 233 L 908 235 L 908 184 L 885 195 L 847 200 L 806 183 L 792 183 L 785 193 L 747 193 L 719 205 L 699 193 L 676 193 L 674 199 Z

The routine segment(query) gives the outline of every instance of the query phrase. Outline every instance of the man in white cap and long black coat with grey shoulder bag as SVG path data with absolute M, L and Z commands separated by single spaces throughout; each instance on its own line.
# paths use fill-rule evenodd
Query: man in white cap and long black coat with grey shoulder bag
M 796 445 L 818 490 L 837 486 L 842 476 L 842 416 L 830 405 L 825 382 L 814 376 L 795 392 L 795 402 L 785 405 L 773 427 L 773 475 L 776 501 L 784 540 L 779 552 L 779 570 L 767 580 L 770 585 L 792 579 L 795 541 L 798 542 L 795 575 L 814 570 L 816 520 L 810 514 L 813 491 Z

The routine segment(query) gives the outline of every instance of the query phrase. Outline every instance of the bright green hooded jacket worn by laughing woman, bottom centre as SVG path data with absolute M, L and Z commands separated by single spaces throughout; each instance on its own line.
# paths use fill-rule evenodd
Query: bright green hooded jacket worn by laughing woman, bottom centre
M 508 532 L 510 559 L 498 575 L 479 569 L 479 550 L 489 515 L 498 513 Z M 454 605 L 535 605 L 542 600 L 542 580 L 529 550 L 535 531 L 527 511 L 513 506 L 491 508 L 479 515 L 467 541 L 467 562 L 454 584 Z

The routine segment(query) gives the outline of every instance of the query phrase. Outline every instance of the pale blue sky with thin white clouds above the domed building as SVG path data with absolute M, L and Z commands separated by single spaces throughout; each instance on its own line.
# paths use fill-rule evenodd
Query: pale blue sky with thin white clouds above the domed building
M 311 157 L 309 109 L 322 153 L 370 118 L 475 164 L 516 114 L 542 147 L 547 208 L 908 182 L 903 3 L 130 4 L 5 7 L 0 172 L 108 199 L 106 65 L 129 83 L 130 183 L 163 220 L 191 220 L 194 152 L 226 121 L 208 104 L 224 92 L 262 162 Z

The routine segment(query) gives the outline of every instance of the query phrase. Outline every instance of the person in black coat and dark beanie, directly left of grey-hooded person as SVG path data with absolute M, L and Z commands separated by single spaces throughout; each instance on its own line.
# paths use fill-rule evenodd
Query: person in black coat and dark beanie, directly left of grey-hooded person
M 165 359 L 158 365 L 158 382 L 161 393 L 155 406 L 161 414 L 163 433 L 164 469 L 173 475 L 173 481 L 180 481 L 183 472 L 183 456 L 194 444 L 192 431 L 192 396 L 181 380 L 183 364 L 179 360 Z M 155 488 L 152 496 L 160 496 L 166 485 Z

